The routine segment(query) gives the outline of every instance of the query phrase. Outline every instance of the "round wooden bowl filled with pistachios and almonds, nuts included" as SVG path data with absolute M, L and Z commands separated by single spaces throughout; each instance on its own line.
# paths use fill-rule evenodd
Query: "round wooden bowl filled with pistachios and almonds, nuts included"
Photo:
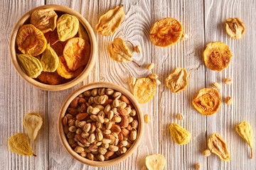
M 116 84 L 97 82 L 80 87 L 63 103 L 58 135 L 75 159 L 90 166 L 111 166 L 127 159 L 144 131 L 136 98 Z

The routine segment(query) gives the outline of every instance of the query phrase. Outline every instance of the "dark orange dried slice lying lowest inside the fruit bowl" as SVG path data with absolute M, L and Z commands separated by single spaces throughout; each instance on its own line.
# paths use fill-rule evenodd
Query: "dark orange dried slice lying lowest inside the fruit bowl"
M 38 79 L 41 82 L 45 84 L 50 84 L 50 85 L 61 84 L 63 81 L 63 77 L 60 77 L 57 71 L 41 72 L 41 74 L 38 76 Z

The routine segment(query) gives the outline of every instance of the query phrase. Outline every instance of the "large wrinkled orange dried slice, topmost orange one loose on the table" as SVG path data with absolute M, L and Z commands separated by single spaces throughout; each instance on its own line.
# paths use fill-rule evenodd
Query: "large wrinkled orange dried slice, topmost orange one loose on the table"
M 154 45 L 167 47 L 174 45 L 182 36 L 181 23 L 175 18 L 164 18 L 151 26 L 149 38 Z

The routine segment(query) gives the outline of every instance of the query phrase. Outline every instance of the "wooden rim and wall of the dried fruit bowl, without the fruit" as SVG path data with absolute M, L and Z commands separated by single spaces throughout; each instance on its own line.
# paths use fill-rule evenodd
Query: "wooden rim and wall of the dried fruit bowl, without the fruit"
M 84 28 L 87 30 L 87 33 L 90 37 L 90 45 L 91 45 L 91 53 L 90 53 L 90 59 L 85 67 L 85 69 L 82 71 L 82 73 L 75 77 L 75 79 L 68 81 L 65 84 L 58 84 L 58 85 L 49 85 L 49 84 L 43 84 L 39 81 L 36 81 L 35 79 L 32 79 L 31 77 L 28 77 L 28 75 L 23 72 L 23 69 L 18 64 L 18 60 L 16 57 L 16 35 L 18 33 L 18 29 L 23 26 L 24 23 L 26 23 L 29 18 L 31 17 L 31 13 L 37 8 L 53 8 L 54 11 L 59 11 L 62 13 L 70 13 L 73 16 L 76 16 L 80 23 L 84 26 Z M 73 87 L 77 84 L 79 84 L 81 81 L 87 77 L 90 72 L 92 71 L 92 68 L 95 65 L 96 57 L 97 57 L 97 41 L 95 38 L 95 33 L 92 30 L 92 27 L 90 26 L 90 23 L 86 21 L 86 19 L 77 11 L 73 10 L 72 8 L 68 8 L 66 6 L 60 6 L 60 5 L 45 5 L 45 6 L 38 6 L 37 8 L 33 8 L 31 11 L 28 11 L 25 13 L 16 23 L 14 26 L 14 30 L 12 30 L 11 33 L 11 40 L 9 44 L 9 50 L 11 54 L 11 61 L 14 64 L 14 67 L 18 74 L 21 75 L 21 77 L 27 81 L 29 84 L 38 87 L 39 89 L 47 90 L 47 91 L 61 91 L 65 89 L 69 89 L 70 87 Z

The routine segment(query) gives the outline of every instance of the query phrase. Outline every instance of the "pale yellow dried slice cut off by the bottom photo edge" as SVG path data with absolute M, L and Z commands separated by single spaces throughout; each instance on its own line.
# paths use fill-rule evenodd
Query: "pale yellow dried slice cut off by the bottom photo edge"
M 163 170 L 166 165 L 166 159 L 164 155 L 152 154 L 146 157 L 145 164 L 149 170 Z

